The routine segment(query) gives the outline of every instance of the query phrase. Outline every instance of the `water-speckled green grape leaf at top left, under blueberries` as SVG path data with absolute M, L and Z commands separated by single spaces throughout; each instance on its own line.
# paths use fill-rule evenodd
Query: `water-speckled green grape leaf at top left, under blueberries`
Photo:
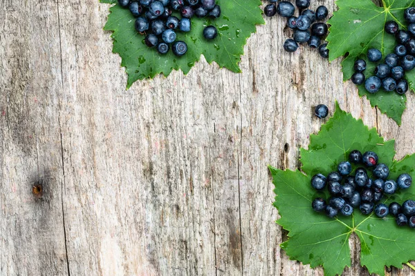
M 201 55 L 212 63 L 216 61 L 221 68 L 233 72 L 241 72 L 239 61 L 243 55 L 243 46 L 250 35 L 256 31 L 256 25 L 264 24 L 261 0 L 216 0 L 221 6 L 219 19 L 192 19 L 190 32 L 177 32 L 177 40 L 187 43 L 187 53 L 176 57 L 172 51 L 167 55 L 159 55 L 155 49 L 148 48 L 143 42 L 144 35 L 134 28 L 135 18 L 129 9 L 122 8 L 116 0 L 101 0 L 102 3 L 116 3 L 110 8 L 104 30 L 113 34 L 113 52 L 122 58 L 121 66 L 128 74 L 127 88 L 138 79 L 153 78 L 163 73 L 166 77 L 172 70 L 181 69 L 187 74 Z M 212 41 L 203 38 L 203 28 L 216 26 L 218 37 Z

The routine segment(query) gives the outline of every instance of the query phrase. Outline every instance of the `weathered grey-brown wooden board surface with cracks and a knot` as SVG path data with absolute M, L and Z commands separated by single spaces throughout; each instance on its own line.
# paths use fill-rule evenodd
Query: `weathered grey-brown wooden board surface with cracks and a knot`
M 284 52 L 277 17 L 248 40 L 242 74 L 203 60 L 126 91 L 108 12 L 1 1 L 0 275 L 323 275 L 280 250 L 266 166 L 299 166 L 322 124 L 311 107 L 335 99 L 395 138 L 397 158 L 414 152 L 414 96 L 398 127 L 339 61 Z M 350 245 L 344 275 L 367 275 Z

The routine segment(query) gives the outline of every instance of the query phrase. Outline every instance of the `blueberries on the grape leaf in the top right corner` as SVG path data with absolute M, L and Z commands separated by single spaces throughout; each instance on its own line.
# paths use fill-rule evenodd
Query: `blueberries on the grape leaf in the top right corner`
M 363 73 L 366 69 L 365 60 L 358 59 L 354 65 L 355 73 L 351 81 L 356 85 L 365 83 L 369 93 L 376 93 L 383 88 L 387 92 L 396 91 L 403 95 L 409 89 L 404 77 L 405 72 L 415 68 L 415 8 L 407 8 L 404 16 L 409 23 L 407 30 L 400 30 L 396 21 L 385 23 L 385 32 L 395 36 L 396 46 L 393 53 L 387 55 L 382 63 L 377 64 L 374 76 L 366 79 Z M 367 59 L 371 62 L 379 62 L 382 60 L 382 52 L 371 48 L 367 51 Z

